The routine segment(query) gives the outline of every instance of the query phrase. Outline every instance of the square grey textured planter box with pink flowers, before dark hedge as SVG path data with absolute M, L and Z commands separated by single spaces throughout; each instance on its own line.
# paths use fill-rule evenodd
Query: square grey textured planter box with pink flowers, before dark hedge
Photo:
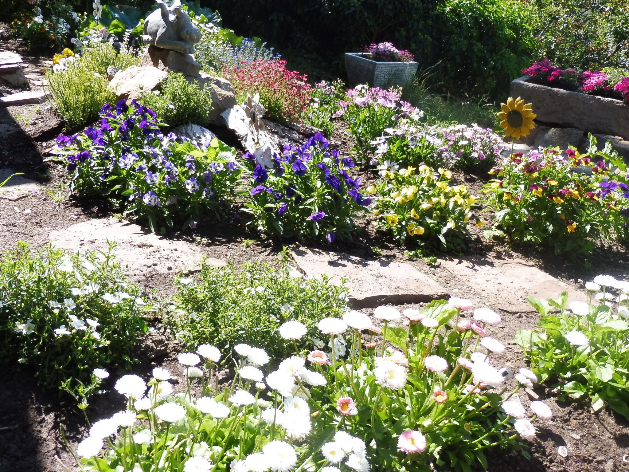
M 368 56 L 367 52 L 345 53 L 345 69 L 353 86 L 369 84 L 371 87 L 387 89 L 413 82 L 417 62 L 378 62 Z

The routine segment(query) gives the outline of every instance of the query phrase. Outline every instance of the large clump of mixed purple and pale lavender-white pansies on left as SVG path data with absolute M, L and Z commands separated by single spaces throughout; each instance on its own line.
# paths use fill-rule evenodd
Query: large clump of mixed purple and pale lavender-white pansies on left
M 72 190 L 116 199 L 152 230 L 175 222 L 196 227 L 208 210 L 225 214 L 240 174 L 231 147 L 164 135 L 155 113 L 135 100 L 106 104 L 100 117 L 100 126 L 57 138 Z

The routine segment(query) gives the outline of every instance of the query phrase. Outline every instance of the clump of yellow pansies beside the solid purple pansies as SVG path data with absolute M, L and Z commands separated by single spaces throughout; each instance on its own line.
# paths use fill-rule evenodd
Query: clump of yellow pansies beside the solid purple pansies
M 397 166 L 395 166 L 397 167 Z M 399 242 L 420 240 L 441 250 L 460 250 L 469 236 L 476 197 L 464 185 L 452 186 L 452 172 L 428 166 L 386 169 L 382 181 L 370 188 L 376 194 L 374 213 L 379 227 Z

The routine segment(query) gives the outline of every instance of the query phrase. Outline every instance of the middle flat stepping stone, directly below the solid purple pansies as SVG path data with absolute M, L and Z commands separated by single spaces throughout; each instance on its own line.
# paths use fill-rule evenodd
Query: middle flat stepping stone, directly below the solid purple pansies
M 354 308 L 448 298 L 445 288 L 403 262 L 360 259 L 301 247 L 293 250 L 292 257 L 309 278 L 321 278 L 321 274 L 326 274 L 331 283 L 337 285 L 340 285 L 341 278 L 348 279 L 345 286 L 350 291 L 350 303 Z

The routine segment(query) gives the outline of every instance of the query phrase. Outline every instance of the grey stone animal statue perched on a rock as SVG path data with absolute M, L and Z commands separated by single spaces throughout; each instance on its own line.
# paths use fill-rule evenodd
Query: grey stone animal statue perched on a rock
M 181 1 L 174 0 L 170 6 L 162 0 L 156 1 L 159 9 L 150 13 L 144 22 L 144 41 L 160 48 L 192 54 L 194 44 L 201 41 L 201 31 L 192 25 L 186 11 L 181 9 Z

